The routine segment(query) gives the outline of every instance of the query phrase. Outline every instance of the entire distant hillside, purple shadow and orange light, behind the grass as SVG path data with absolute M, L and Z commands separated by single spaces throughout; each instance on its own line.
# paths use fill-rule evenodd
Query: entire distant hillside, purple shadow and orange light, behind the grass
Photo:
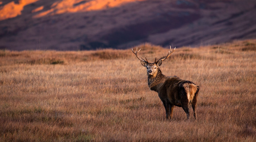
M 255 0 L 0 0 L 0 49 L 91 50 L 256 38 Z

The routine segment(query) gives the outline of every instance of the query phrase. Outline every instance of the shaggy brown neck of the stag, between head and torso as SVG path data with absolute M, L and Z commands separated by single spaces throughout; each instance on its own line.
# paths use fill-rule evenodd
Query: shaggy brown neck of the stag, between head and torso
M 162 74 L 161 70 L 158 68 L 156 74 L 148 75 L 148 86 L 150 90 L 158 92 L 161 89 L 166 76 Z

